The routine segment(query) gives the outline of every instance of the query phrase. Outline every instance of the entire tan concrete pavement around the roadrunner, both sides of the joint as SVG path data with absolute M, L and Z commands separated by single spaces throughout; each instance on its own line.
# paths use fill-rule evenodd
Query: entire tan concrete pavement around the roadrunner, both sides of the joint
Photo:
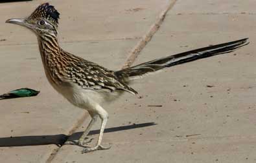
M 126 54 L 145 29 L 154 23 L 162 6 L 167 5 L 167 1 L 111 1 L 112 5 L 103 1 L 89 2 L 90 5 L 82 1 L 78 3 L 87 7 L 86 14 L 91 14 L 91 17 L 86 15 L 90 17 L 88 19 L 77 13 L 84 10 L 74 13 L 71 12 L 74 4 L 67 5 L 70 13 L 79 17 L 75 19 L 81 21 L 78 21 L 77 27 L 76 20 L 72 21 L 74 26 L 62 20 L 60 30 L 65 36 L 63 39 L 60 37 L 60 41 L 69 52 L 108 68 L 121 67 Z M 27 12 L 27 8 L 36 3 L 38 1 L 11 5 L 21 4 Z M 52 3 L 62 8 L 60 12 L 67 10 L 67 6 L 60 1 Z M 45 162 L 47 159 L 48 162 L 256 162 L 255 5 L 255 1 L 177 1 L 135 64 L 243 37 L 250 37 L 251 43 L 236 52 L 175 66 L 135 82 L 133 88 L 143 98 L 125 94 L 105 106 L 110 120 L 103 144 L 111 144 L 111 149 L 83 155 L 80 153 L 82 148 L 69 145 L 60 149 L 55 145 L 5 147 L 0 148 L 0 162 Z M 7 4 L 4 6 L 9 8 Z M 133 13 L 133 17 L 130 15 L 132 8 L 147 9 Z M 99 9 L 103 13 L 95 14 Z M 22 14 L 22 10 L 17 12 Z M 107 21 L 112 34 L 100 24 L 100 21 L 106 20 L 104 13 L 107 18 L 113 17 Z M 5 14 L 0 14 L 1 20 L 6 18 Z M 129 16 L 126 17 L 126 14 Z M 64 17 L 72 20 L 68 15 Z M 145 23 L 143 17 L 150 17 L 150 22 Z M 93 26 L 95 30 L 91 28 L 87 32 L 84 26 Z M 47 84 L 35 38 L 33 40 L 31 36 L 30 39 L 31 34 L 25 30 L 18 34 L 23 37 L 17 37 L 15 34 L 21 30 L 16 26 L 0 28 L 0 31 L 13 32 L 0 33 L 1 37 L 5 35 L 7 38 L 0 42 L 3 49 L 0 51 L 3 53 L 0 55 L 0 70 L 5 75 L 4 79 L 1 78 L 1 91 L 21 87 L 24 82 L 41 90 L 38 97 L 0 101 L 1 116 L 4 116 L 0 124 L 5 124 L 1 125 L 0 137 L 67 135 L 71 129 L 78 127 L 69 138 L 77 139 L 89 119 L 77 125 L 86 117 L 84 111 L 65 102 Z M 19 44 L 19 41 L 27 44 Z M 88 53 L 84 53 L 85 50 Z M 23 57 L 16 57 L 17 51 Z M 95 129 L 99 129 L 99 123 L 93 129 L 90 138 L 94 140 L 91 144 L 97 140 Z M 53 152 L 49 159 L 54 149 L 58 151 Z

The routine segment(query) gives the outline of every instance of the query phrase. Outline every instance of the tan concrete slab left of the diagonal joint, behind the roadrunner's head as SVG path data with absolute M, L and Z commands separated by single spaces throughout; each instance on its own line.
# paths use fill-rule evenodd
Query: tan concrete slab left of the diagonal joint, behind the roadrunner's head
M 5 23 L 28 16 L 43 2 L 0 4 L 0 92 L 23 87 L 41 91 L 37 97 L 0 101 L 0 162 L 46 162 L 58 149 L 54 144 L 87 116 L 46 81 L 35 35 Z M 59 41 L 65 50 L 118 69 L 169 1 L 50 3 L 61 13 Z

